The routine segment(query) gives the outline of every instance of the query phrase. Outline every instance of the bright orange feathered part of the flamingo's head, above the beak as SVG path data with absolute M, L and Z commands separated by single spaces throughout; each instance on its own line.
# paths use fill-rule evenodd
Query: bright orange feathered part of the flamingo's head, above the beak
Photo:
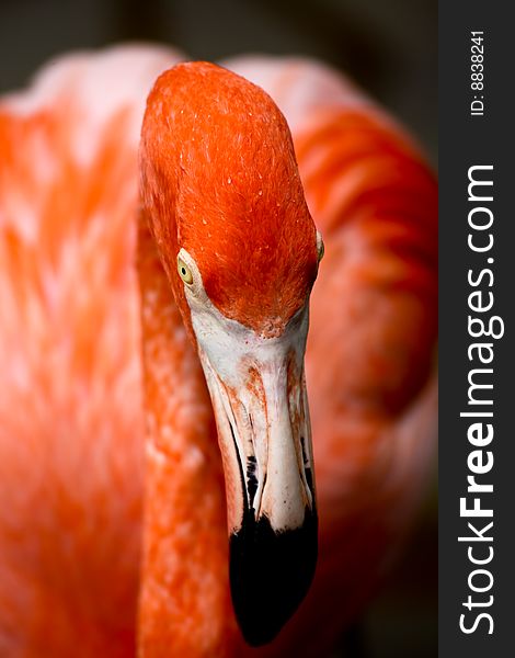
M 186 321 L 181 247 L 226 317 L 281 333 L 314 281 L 317 240 L 272 99 L 211 64 L 175 66 L 149 95 L 140 166 L 144 207 Z

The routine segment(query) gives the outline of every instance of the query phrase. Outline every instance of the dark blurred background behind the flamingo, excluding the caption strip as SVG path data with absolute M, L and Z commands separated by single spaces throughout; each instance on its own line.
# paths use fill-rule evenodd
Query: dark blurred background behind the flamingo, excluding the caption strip
M 250 52 L 323 59 L 401 120 L 436 167 L 435 0 L 0 0 L 0 92 L 26 84 L 59 53 L 127 39 L 173 44 L 193 59 Z M 364 616 L 356 658 L 437 655 L 435 489 Z

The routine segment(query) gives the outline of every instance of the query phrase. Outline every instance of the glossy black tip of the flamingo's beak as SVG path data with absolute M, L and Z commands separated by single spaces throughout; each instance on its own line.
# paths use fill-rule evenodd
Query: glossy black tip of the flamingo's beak
M 272 642 L 305 598 L 317 564 L 317 514 L 307 511 L 300 527 L 276 533 L 252 510 L 231 535 L 232 604 L 249 645 Z

